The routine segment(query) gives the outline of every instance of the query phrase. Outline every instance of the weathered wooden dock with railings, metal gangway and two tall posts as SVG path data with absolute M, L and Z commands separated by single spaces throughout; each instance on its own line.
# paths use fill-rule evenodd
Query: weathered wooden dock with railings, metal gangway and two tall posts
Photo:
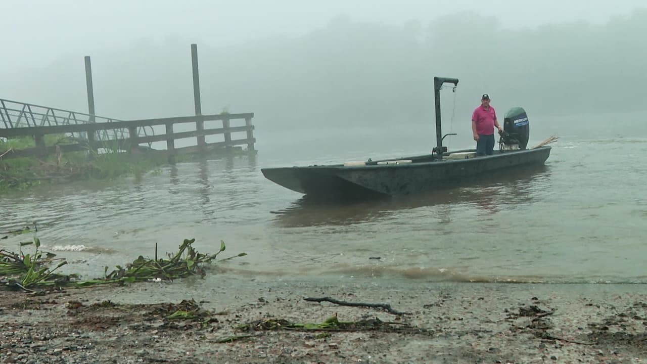
M 85 57 L 85 74 L 88 95 L 88 113 L 50 108 L 0 98 L 0 137 L 33 137 L 34 148 L 24 150 L 0 150 L 1 158 L 47 157 L 60 152 L 94 152 L 100 149 L 118 150 L 131 154 L 148 152 L 168 155 L 169 163 L 175 163 L 179 154 L 212 154 L 221 151 L 231 153 L 234 148 L 242 150 L 246 145 L 247 152 L 256 154 L 254 149 L 254 113 L 221 113 L 202 115 L 200 102 L 200 84 L 197 65 L 197 46 L 191 45 L 193 71 L 193 97 L 195 115 L 184 117 L 166 117 L 160 119 L 119 120 L 101 117 L 94 114 L 94 93 L 91 64 Z M 205 124 L 217 122 L 217 125 Z M 232 122 L 234 125 L 232 125 Z M 176 132 L 175 126 L 193 125 L 194 130 Z M 208 128 L 205 128 L 205 125 Z M 164 133 L 155 133 L 164 126 Z M 186 127 L 184 128 L 186 129 Z M 208 135 L 224 135 L 220 142 L 206 142 Z M 235 134 L 232 137 L 232 134 Z M 241 135 L 243 134 L 243 135 Z M 66 135 L 74 141 L 65 144 L 47 145 L 45 135 Z M 240 135 L 240 136 L 238 136 Z M 195 145 L 175 147 L 179 139 L 195 139 Z M 166 141 L 166 149 L 153 149 L 151 143 Z M 143 144 L 148 144 L 148 148 Z

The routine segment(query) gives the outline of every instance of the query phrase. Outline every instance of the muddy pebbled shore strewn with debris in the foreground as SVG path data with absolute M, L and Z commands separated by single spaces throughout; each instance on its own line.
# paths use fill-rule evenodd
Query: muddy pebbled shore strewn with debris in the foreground
M 196 281 L 73 289 L 47 295 L 0 290 L 0 360 L 647 362 L 647 291 L 639 285 L 421 281 L 331 286 L 329 282 L 228 277 L 222 287 L 203 290 Z M 309 302 L 305 297 L 390 304 L 406 314 Z M 206 310 L 210 314 L 190 320 L 169 319 L 182 299 L 193 300 L 199 304 L 199 313 Z M 288 323 L 323 323 L 332 315 L 338 321 L 360 321 L 363 326 L 346 331 L 283 328 Z M 283 326 L 263 328 L 276 323 Z

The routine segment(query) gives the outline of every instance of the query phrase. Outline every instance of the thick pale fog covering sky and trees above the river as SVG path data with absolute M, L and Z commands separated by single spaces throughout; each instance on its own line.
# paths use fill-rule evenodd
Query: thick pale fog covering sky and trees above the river
M 432 122 L 433 76 L 459 78 L 457 119 L 482 93 L 499 113 L 645 109 L 641 2 L 437 3 L 7 1 L 0 98 L 87 111 L 89 55 L 98 115 L 192 115 L 197 43 L 203 113 L 273 130 Z

